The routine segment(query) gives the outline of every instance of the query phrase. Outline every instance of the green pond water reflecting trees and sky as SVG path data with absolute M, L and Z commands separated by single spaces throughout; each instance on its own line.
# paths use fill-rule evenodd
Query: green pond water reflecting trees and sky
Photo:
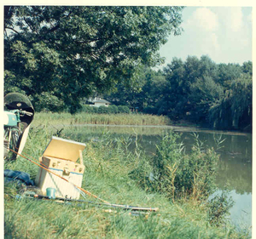
M 198 135 L 203 147 L 215 147 L 215 139 L 224 139 L 222 148 L 218 149 L 217 184 L 218 192 L 229 186 L 230 196 L 235 202 L 230 209 L 230 219 L 238 228 L 249 228 L 252 225 L 252 134 L 234 132 L 200 130 L 198 128 L 172 127 L 117 127 L 117 126 L 73 126 L 64 129 L 63 133 L 80 142 L 100 140 L 102 134 L 110 134 L 111 138 L 129 137 L 131 151 L 135 141 L 149 155 L 154 154 L 155 145 L 160 142 L 161 135 L 173 130 L 181 134 L 185 150 L 189 153 L 191 145 Z

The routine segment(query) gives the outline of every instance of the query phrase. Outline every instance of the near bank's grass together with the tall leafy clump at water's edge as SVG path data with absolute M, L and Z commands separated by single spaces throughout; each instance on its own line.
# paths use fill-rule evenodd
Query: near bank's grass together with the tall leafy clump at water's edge
M 53 134 L 78 140 L 74 134 L 32 128 L 23 155 L 38 160 Z M 205 196 L 214 186 L 206 174 L 212 174 L 218 156 L 212 150 L 195 149 L 188 158 L 183 146 L 175 145 L 175 137 L 164 136 L 153 157 L 138 144 L 131 151 L 133 138 L 113 138 L 109 133 L 91 140 L 83 152 L 85 190 L 108 202 L 160 208 L 158 212 L 132 215 L 90 203 L 17 200 L 20 188 L 8 184 L 4 188 L 5 238 L 249 238 L 227 221 L 218 226 L 209 218 Z M 38 173 L 38 167 L 22 157 L 5 162 L 4 168 L 24 171 L 32 179 Z M 82 199 L 98 202 L 90 196 Z

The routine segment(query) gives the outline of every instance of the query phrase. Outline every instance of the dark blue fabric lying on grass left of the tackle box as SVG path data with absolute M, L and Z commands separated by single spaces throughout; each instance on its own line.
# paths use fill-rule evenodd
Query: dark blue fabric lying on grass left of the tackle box
M 30 175 L 20 171 L 14 171 L 10 169 L 4 169 L 4 183 L 18 181 L 28 186 L 35 185 L 34 181 L 30 179 Z

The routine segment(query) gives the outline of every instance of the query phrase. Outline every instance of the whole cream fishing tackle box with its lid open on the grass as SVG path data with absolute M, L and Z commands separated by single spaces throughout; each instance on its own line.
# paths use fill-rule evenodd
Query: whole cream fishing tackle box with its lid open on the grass
M 35 182 L 44 195 L 46 195 L 46 189 L 50 187 L 55 188 L 55 196 L 79 199 L 80 191 L 74 185 L 79 187 L 82 185 L 84 175 L 82 151 L 84 148 L 83 143 L 52 137 L 43 156 L 39 158 L 39 162 L 42 167 L 64 179 L 40 167 Z M 79 162 L 77 162 L 78 159 Z

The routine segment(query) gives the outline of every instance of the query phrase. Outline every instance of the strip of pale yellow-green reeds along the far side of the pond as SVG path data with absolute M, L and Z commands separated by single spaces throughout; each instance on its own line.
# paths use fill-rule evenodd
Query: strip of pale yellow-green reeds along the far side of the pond
M 111 124 L 111 125 L 170 125 L 168 117 L 143 114 L 36 113 L 33 125 L 39 124 Z

